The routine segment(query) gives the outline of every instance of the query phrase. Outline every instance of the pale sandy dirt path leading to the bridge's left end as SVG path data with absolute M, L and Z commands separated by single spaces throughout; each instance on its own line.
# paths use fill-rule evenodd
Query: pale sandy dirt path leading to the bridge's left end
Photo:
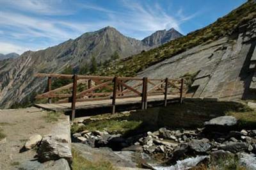
M 36 150 L 19 151 L 31 135 L 51 132 L 54 123 L 47 123 L 46 115 L 46 111 L 36 107 L 0 110 L 0 129 L 6 135 L 0 142 L 0 169 L 16 169 L 21 162 L 35 157 Z

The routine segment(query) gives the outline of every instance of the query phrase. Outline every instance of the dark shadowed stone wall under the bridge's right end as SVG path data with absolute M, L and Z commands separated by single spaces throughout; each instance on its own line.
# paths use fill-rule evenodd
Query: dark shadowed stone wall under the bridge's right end
M 154 107 L 147 110 L 131 112 L 132 120 L 142 120 L 153 129 L 193 128 L 200 127 L 205 121 L 225 112 L 239 110 L 243 104 L 238 102 L 185 100 L 183 104 L 172 104 L 167 107 Z

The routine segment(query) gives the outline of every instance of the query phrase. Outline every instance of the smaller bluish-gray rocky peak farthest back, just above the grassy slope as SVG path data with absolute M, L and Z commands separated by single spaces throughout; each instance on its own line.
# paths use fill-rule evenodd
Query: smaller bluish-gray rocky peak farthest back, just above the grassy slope
M 168 31 L 164 29 L 156 31 L 156 33 L 147 36 L 142 40 L 142 42 L 150 47 L 157 47 L 166 42 L 170 42 L 171 40 L 175 40 L 176 38 L 180 38 L 181 36 L 183 35 L 176 31 L 174 28 L 171 28 Z

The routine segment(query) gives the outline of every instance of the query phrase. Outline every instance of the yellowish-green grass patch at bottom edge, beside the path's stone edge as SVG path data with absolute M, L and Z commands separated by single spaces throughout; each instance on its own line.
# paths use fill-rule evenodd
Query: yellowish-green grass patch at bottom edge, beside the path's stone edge
M 99 161 L 90 162 L 86 158 L 82 157 L 79 151 L 72 148 L 73 163 L 72 167 L 74 170 L 115 170 L 111 162 Z

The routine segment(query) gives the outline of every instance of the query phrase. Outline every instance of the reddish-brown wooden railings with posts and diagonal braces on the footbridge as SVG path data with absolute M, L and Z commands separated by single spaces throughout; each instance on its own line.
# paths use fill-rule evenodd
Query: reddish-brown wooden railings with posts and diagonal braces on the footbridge
M 36 98 L 59 98 L 57 103 L 72 103 L 72 119 L 76 111 L 76 102 L 112 99 L 113 113 L 115 113 L 116 98 L 141 97 L 141 109 L 147 109 L 147 97 L 163 95 L 164 106 L 167 95 L 179 94 L 182 102 L 183 79 L 148 79 L 147 77 L 103 77 L 91 75 L 65 75 L 56 73 L 37 73 L 35 77 L 48 77 L 47 92 L 36 95 Z M 58 79 L 72 79 L 73 82 L 60 88 L 52 89 L 52 77 Z M 77 91 L 80 84 L 86 84 L 85 89 Z M 68 91 L 72 93 L 63 93 Z

